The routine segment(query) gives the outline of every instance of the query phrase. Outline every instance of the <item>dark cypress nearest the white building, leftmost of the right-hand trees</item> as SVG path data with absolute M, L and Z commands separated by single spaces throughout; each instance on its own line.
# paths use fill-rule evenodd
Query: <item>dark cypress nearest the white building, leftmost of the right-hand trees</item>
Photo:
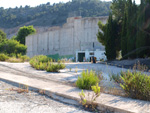
M 108 60 L 115 59 L 120 51 L 119 25 L 113 20 L 110 14 L 108 22 L 104 25 L 101 21 L 98 23 L 99 31 L 97 34 L 98 41 L 105 46 L 106 56 Z M 113 48 L 113 49 L 112 49 Z

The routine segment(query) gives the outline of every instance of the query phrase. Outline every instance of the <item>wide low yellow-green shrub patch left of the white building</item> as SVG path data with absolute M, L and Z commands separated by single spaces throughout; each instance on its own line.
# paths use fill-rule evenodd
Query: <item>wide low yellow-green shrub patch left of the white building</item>
M 30 65 L 37 70 L 46 70 L 47 72 L 59 72 L 66 66 L 61 62 L 53 62 L 52 58 L 44 55 L 34 56 L 30 60 Z

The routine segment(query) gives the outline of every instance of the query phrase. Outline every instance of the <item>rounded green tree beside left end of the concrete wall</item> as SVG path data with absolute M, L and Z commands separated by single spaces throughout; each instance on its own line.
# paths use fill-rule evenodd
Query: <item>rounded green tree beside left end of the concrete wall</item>
M 25 37 L 36 32 L 36 29 L 33 26 L 24 26 L 21 27 L 17 34 L 17 41 L 25 45 Z

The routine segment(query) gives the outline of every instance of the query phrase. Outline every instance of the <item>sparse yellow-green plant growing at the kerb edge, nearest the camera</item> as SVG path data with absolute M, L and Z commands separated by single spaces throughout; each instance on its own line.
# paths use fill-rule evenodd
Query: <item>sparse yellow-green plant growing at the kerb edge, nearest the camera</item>
M 80 103 L 85 108 L 88 108 L 93 111 L 93 110 L 96 110 L 96 107 L 97 107 L 97 104 L 94 102 L 100 96 L 100 87 L 97 83 L 95 86 L 91 86 L 91 89 L 93 91 L 92 94 L 88 93 L 88 95 L 86 95 L 82 90 L 81 93 L 79 93 L 79 96 L 81 99 Z

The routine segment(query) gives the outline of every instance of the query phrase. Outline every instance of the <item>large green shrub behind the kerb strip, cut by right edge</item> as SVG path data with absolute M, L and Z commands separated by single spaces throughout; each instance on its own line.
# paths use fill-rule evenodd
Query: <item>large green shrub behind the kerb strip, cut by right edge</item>
M 124 72 L 120 86 L 127 96 L 150 101 L 150 76 L 141 72 Z

